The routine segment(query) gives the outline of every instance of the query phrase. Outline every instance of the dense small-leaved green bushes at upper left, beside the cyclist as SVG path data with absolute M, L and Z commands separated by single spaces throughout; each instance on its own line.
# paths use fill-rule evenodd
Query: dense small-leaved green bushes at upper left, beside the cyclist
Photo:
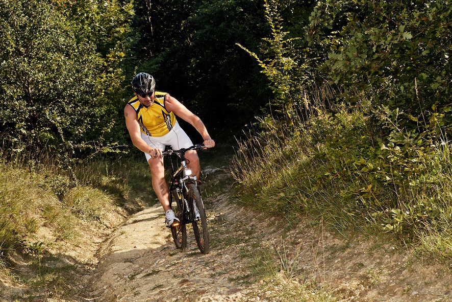
M 124 19 L 132 12 L 130 5 L 121 11 L 116 1 L 105 4 L 0 4 L 0 123 L 6 146 L 21 151 L 46 145 L 73 157 L 117 145 L 108 131 L 123 78 L 118 64 Z M 80 22 L 91 17 L 97 26 Z

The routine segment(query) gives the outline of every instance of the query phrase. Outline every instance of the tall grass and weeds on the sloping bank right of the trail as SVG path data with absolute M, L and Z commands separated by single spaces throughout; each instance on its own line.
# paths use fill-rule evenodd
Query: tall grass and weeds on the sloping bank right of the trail
M 371 120 L 344 107 L 308 121 L 292 114 L 290 126 L 263 120 L 239 142 L 240 198 L 288 221 L 306 213 L 344 236 L 403 239 L 420 255 L 452 259 L 451 144 L 429 132 L 434 125 L 404 130 L 401 114 L 380 108 Z

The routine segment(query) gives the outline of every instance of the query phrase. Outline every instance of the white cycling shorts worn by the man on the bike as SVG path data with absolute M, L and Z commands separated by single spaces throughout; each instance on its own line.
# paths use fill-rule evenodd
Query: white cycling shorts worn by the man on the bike
M 141 138 L 143 138 L 143 141 L 146 142 L 149 147 L 158 148 L 162 150 L 162 152 L 165 150 L 165 146 L 171 146 L 173 150 L 193 146 L 190 137 L 188 137 L 187 133 L 179 126 L 179 123 L 175 123 L 174 127 L 163 136 L 149 136 L 141 132 Z M 149 153 L 144 152 L 144 155 L 146 155 L 146 160 L 149 161 Z

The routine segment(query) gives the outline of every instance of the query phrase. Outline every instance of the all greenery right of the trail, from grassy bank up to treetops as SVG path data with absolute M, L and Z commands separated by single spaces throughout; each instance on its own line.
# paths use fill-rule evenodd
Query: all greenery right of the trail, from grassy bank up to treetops
M 266 6 L 269 47 L 248 51 L 280 114 L 260 119 L 240 145 L 233 174 L 242 198 L 289 221 L 325 219 L 343 234 L 436 242 L 451 257 L 450 6 L 318 2 L 293 36 L 279 4 Z M 329 85 L 319 89 L 319 79 Z

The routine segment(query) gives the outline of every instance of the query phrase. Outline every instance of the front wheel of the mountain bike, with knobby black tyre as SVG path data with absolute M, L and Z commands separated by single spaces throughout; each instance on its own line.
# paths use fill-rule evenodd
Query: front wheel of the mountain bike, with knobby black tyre
M 200 219 L 198 221 L 194 220 L 193 217 L 192 223 L 196 243 L 198 244 L 199 251 L 202 254 L 207 254 L 209 253 L 210 238 L 209 231 L 207 230 L 207 218 L 204 210 L 204 203 L 196 184 L 188 183 L 187 189 L 188 201 L 191 207 L 190 212 L 193 213 L 194 216 L 194 211 L 192 209 L 194 208 L 194 204 L 196 204 L 200 215 Z

